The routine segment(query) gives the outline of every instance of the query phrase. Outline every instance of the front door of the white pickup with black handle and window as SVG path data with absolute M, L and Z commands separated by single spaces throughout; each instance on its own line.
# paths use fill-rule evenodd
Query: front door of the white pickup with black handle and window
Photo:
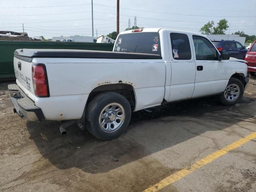
M 196 62 L 195 89 L 192 98 L 221 93 L 225 90 L 227 62 L 218 60 L 219 52 L 207 38 L 192 35 Z

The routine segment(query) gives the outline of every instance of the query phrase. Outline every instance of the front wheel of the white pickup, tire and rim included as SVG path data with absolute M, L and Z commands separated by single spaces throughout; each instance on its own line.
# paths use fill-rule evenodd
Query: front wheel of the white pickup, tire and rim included
M 244 94 L 242 82 L 236 78 L 230 78 L 224 92 L 220 94 L 220 101 L 223 105 L 231 106 L 236 104 Z

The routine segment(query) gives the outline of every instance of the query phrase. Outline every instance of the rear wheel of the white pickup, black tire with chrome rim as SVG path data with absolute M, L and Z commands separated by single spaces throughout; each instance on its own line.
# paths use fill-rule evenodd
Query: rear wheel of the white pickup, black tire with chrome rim
M 128 100 L 115 92 L 104 92 L 93 98 L 86 107 L 85 125 L 100 140 L 118 138 L 131 118 Z

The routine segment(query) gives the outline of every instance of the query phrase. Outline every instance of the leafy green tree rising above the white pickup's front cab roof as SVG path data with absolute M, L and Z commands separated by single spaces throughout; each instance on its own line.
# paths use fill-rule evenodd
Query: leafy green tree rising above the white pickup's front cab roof
M 228 21 L 222 19 L 217 23 L 216 27 L 214 27 L 214 21 L 209 21 L 201 27 L 200 32 L 202 34 L 225 34 L 226 30 L 228 30 Z

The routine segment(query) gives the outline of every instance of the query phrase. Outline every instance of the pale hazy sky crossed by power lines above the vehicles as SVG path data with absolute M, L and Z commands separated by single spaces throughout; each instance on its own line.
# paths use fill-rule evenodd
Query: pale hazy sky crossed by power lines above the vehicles
M 0 30 L 28 36 L 92 36 L 91 0 L 0 0 Z M 208 21 L 228 20 L 226 34 L 256 35 L 256 0 L 120 0 L 120 32 L 134 25 L 199 32 Z M 93 0 L 94 36 L 116 31 L 116 0 Z M 97 30 L 97 33 L 96 33 Z

